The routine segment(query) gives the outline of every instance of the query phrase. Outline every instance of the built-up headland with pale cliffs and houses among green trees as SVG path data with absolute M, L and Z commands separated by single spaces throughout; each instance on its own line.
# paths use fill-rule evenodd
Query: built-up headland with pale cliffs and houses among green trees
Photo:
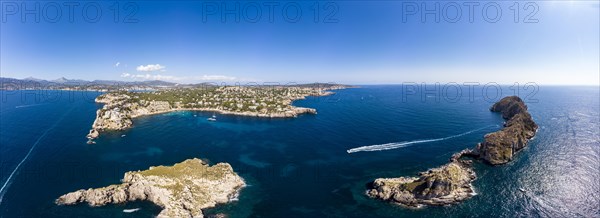
M 296 117 L 299 114 L 316 114 L 313 108 L 291 105 L 294 100 L 307 96 L 326 96 L 329 90 L 342 89 L 343 85 L 297 86 L 205 86 L 168 89 L 153 92 L 109 92 L 95 101 L 104 106 L 96 112 L 87 138 L 97 138 L 100 132 L 123 130 L 131 127 L 132 119 L 171 111 L 213 111 L 255 117 Z

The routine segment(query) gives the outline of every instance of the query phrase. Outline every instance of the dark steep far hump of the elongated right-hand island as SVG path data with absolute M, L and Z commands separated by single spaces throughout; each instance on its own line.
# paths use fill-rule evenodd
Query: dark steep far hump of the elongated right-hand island
M 500 131 L 485 135 L 475 150 L 479 157 L 492 165 L 505 164 L 535 136 L 537 124 L 527 112 L 527 106 L 517 96 L 505 97 L 491 108 L 507 119 Z

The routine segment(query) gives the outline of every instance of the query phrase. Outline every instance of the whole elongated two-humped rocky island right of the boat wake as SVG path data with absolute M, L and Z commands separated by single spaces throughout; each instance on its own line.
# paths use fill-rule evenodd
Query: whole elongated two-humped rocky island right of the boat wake
M 492 165 L 508 163 L 517 151 L 527 146 L 538 128 L 527 106 L 517 96 L 501 99 L 490 110 L 502 113 L 507 121 L 501 130 L 485 135 L 474 150 L 456 153 L 450 163 L 419 173 L 419 177 L 376 179 L 367 195 L 407 207 L 449 205 L 473 196 L 471 182 L 476 175 L 472 161 L 462 157 L 483 159 Z

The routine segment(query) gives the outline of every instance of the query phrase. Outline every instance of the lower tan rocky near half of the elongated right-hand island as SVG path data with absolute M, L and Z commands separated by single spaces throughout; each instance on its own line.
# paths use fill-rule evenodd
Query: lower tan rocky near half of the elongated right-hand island
M 475 178 L 470 166 L 451 162 L 419 177 L 376 179 L 367 195 L 408 207 L 454 204 L 473 195 L 471 182 Z

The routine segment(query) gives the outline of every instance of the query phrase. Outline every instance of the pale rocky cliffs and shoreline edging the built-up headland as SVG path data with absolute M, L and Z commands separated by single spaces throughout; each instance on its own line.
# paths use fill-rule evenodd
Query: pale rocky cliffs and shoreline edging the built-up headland
M 344 87 L 333 86 L 326 90 L 336 90 L 342 88 Z M 288 94 L 287 96 L 276 96 L 281 98 L 281 101 L 278 103 L 283 105 L 283 108 L 279 108 L 281 107 L 279 106 L 277 110 L 273 111 L 234 111 L 221 105 L 198 107 L 198 104 L 195 103 L 184 105 L 181 102 L 140 100 L 138 99 L 138 96 L 132 92 L 106 93 L 98 96 L 95 99 L 96 103 L 104 104 L 104 106 L 96 111 L 96 118 L 92 124 L 91 130 L 87 134 L 87 138 L 89 139 L 88 143 L 93 143 L 93 140 L 98 138 L 101 132 L 111 130 L 119 131 L 130 128 L 133 125 L 133 118 L 175 111 L 205 111 L 219 114 L 263 118 L 294 118 L 300 114 L 317 114 L 316 109 L 297 107 L 291 104 L 293 101 L 305 99 L 307 96 L 328 96 L 334 94 L 331 91 L 324 91 L 323 89 L 317 90 L 303 88 L 300 90 L 303 91 L 298 91 L 298 93 L 294 93 L 293 95 Z M 236 94 L 242 93 L 242 91 L 233 92 Z

